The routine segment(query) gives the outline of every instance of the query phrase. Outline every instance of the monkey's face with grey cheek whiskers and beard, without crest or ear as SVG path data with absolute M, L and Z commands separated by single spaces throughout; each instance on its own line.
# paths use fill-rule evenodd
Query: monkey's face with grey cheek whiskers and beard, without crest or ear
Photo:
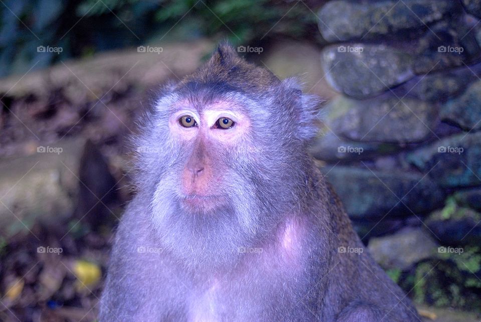
M 283 147 L 282 116 L 266 104 L 235 93 L 158 103 L 159 153 L 146 164 L 157 169 L 152 222 L 163 247 L 190 263 L 233 259 L 289 211 L 296 148 Z

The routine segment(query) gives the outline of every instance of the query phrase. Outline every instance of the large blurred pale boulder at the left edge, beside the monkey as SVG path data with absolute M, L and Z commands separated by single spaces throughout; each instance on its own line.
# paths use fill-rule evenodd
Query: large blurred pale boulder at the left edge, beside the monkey
M 29 233 L 36 222 L 59 222 L 72 216 L 83 142 L 32 143 L 30 155 L 0 160 L 1 236 Z

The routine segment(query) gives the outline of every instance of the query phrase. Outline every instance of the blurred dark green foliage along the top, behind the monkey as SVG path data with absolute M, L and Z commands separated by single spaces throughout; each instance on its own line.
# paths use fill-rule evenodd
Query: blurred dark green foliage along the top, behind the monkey
M 213 37 L 239 45 L 318 35 L 315 14 L 289 0 L 5 0 L 0 76 L 162 40 Z

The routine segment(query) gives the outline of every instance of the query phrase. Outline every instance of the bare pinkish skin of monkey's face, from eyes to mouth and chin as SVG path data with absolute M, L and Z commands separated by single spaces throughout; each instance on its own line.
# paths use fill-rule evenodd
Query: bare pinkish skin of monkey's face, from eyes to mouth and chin
M 246 141 L 250 119 L 225 101 L 200 110 L 180 103 L 176 109 L 168 127 L 171 139 L 185 153 L 176 189 L 179 205 L 190 213 L 225 210 L 231 202 L 231 186 L 239 180 L 227 160 Z

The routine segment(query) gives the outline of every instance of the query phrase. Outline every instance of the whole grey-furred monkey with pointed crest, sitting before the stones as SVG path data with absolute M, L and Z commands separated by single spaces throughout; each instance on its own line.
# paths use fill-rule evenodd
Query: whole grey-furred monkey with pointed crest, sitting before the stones
M 322 104 L 301 87 L 227 43 L 163 87 L 101 322 L 421 320 L 310 156 Z

